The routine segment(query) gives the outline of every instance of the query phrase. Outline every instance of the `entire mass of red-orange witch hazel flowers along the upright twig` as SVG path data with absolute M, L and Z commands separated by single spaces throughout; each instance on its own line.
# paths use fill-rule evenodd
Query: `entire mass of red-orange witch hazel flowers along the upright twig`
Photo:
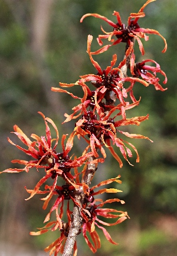
M 148 0 L 139 12 L 130 14 L 128 18 L 128 25 L 122 23 L 119 12 L 114 11 L 117 17 L 117 23 L 113 23 L 106 17 L 99 14 L 86 14 L 81 18 L 81 22 L 84 18 L 94 16 L 106 21 L 113 27 L 113 31 L 107 33 L 101 27 L 104 35 L 98 37 L 100 45 L 103 44 L 102 39 L 108 39 L 112 44 L 107 44 L 101 47 L 96 52 L 91 52 L 91 41 L 93 37 L 88 36 L 87 40 L 87 53 L 90 61 L 96 69 L 96 73 L 81 75 L 78 81 L 73 84 L 65 84 L 60 82 L 59 88 L 52 87 L 54 92 L 64 92 L 78 101 L 78 104 L 73 107 L 73 113 L 65 113 L 64 123 L 76 120 L 73 132 L 70 136 L 63 135 L 61 137 L 61 149 L 57 151 L 57 145 L 59 141 L 58 129 L 55 126 L 53 120 L 45 117 L 40 113 L 45 123 L 45 136 L 37 136 L 35 134 L 28 138 L 24 132 L 17 125 L 14 126 L 14 133 L 18 136 L 19 140 L 24 143 L 25 148 L 16 145 L 8 138 L 8 141 L 15 145 L 18 149 L 30 156 L 30 161 L 24 161 L 15 159 L 12 162 L 24 165 L 24 168 L 9 168 L 3 172 L 28 172 L 30 168 L 36 168 L 37 171 L 44 169 L 44 177 L 38 181 L 34 189 L 27 189 L 30 194 L 28 199 L 31 199 L 35 194 L 45 194 L 41 200 L 44 200 L 43 209 L 47 209 L 51 200 L 54 200 L 54 204 L 45 217 L 44 223 L 50 220 L 51 214 L 55 211 L 56 220 L 48 222 L 43 228 L 40 228 L 37 232 L 31 232 L 31 235 L 41 235 L 48 231 L 60 231 L 60 237 L 54 241 L 51 245 L 45 248 L 45 251 L 50 251 L 50 255 L 55 256 L 58 252 L 65 254 L 67 250 L 67 242 L 73 244 L 74 256 L 77 255 L 76 236 L 80 233 L 83 234 L 87 245 L 91 251 L 96 252 L 100 248 L 100 237 L 96 231 L 99 228 L 103 231 L 106 239 L 112 244 L 117 244 L 111 238 L 104 226 L 117 225 L 123 220 L 129 217 L 127 212 L 113 208 L 104 208 L 104 204 L 124 203 L 123 200 L 114 198 L 103 201 L 97 199 L 95 196 L 103 193 L 117 193 L 120 190 L 115 188 L 100 188 L 103 185 L 111 184 L 113 182 L 121 183 L 119 180 L 120 175 L 116 178 L 109 178 L 106 181 L 101 181 L 94 187 L 89 187 L 89 184 L 93 178 L 94 172 L 97 170 L 97 164 L 103 163 L 106 159 L 105 149 L 109 149 L 113 157 L 119 162 L 120 167 L 123 166 L 122 159 L 129 162 L 133 156 L 132 149 L 136 155 L 136 162 L 139 162 L 139 154 L 135 146 L 132 145 L 124 137 L 132 139 L 148 139 L 143 135 L 137 135 L 124 131 L 124 126 L 139 126 L 142 121 L 148 119 L 149 115 L 136 116 L 127 118 L 127 111 L 137 107 L 140 103 L 140 99 L 136 100 L 133 95 L 133 88 L 136 83 L 140 83 L 145 87 L 149 84 L 153 84 L 156 90 L 165 91 L 159 84 L 159 78 L 156 76 L 160 73 L 165 77 L 163 84 L 166 84 L 167 78 L 165 73 L 160 69 L 160 66 L 155 60 L 147 59 L 142 62 L 135 62 L 135 53 L 133 50 L 134 41 L 139 43 L 139 49 L 142 55 L 145 53 L 142 41 L 144 38 L 148 40 L 148 34 L 158 34 L 162 37 L 158 31 L 151 30 L 149 28 L 141 28 L 137 23 L 139 18 L 145 17 L 144 8 L 150 2 L 155 0 Z M 116 36 L 114 41 L 113 36 Z M 166 51 L 165 48 L 162 52 Z M 93 55 L 97 55 L 109 50 L 110 46 L 119 44 L 120 42 L 126 43 L 126 51 L 122 62 L 116 65 L 117 55 L 112 56 L 110 65 L 102 69 L 96 60 L 93 59 Z M 151 62 L 155 66 L 146 65 L 146 62 Z M 130 69 L 130 76 L 127 76 L 127 69 Z M 83 97 L 80 98 L 68 91 L 68 88 L 81 87 L 83 90 Z M 67 88 L 67 89 L 64 89 Z M 56 136 L 52 139 L 50 126 L 55 130 Z M 83 140 L 86 148 L 83 150 L 81 156 L 74 155 L 74 140 Z M 152 140 L 150 140 L 152 141 Z M 118 148 L 118 152 L 117 149 Z M 71 153 L 73 151 L 73 153 Z M 81 172 L 79 172 L 79 169 Z M 89 172 L 89 170 L 91 170 Z M 89 173 L 88 173 L 89 172 Z M 81 178 L 80 178 L 81 177 Z M 89 178 L 90 177 L 90 178 Z M 52 180 L 52 185 L 48 185 L 47 181 Z M 51 182 L 51 181 L 50 181 Z M 45 183 L 45 185 L 44 185 Z M 95 191 L 97 188 L 99 190 Z M 67 201 L 67 207 L 64 212 L 64 203 Z M 71 210 L 70 201 L 74 203 L 74 207 L 77 208 L 74 212 Z M 77 216 L 76 216 L 77 215 Z M 104 222 L 101 217 L 116 219 L 116 222 L 107 223 Z M 77 218 L 78 217 L 78 218 Z M 73 235 L 72 223 L 78 220 L 75 227 L 78 226 L 75 236 Z M 70 235 L 70 233 L 72 235 Z M 88 236 L 89 233 L 89 236 Z M 72 240 L 73 239 L 73 240 Z

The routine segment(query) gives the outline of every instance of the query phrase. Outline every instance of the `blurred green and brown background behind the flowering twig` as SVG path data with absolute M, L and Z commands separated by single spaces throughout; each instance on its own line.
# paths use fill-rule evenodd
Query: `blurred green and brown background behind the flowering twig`
M 37 111 L 50 117 L 57 124 L 60 137 L 70 133 L 74 122 L 61 125 L 64 113 L 78 104 L 70 95 L 51 92 L 58 82 L 76 82 L 79 75 L 94 73 L 86 53 L 87 35 L 92 34 L 92 50 L 99 49 L 96 41 L 100 25 L 110 31 L 104 21 L 89 17 L 80 24 L 82 15 L 95 12 L 116 22 L 112 16 L 119 11 L 126 23 L 130 12 L 139 11 L 143 0 L 0 0 L 0 129 L 1 171 L 18 167 L 12 159 L 29 159 L 23 152 L 10 145 L 6 137 L 19 143 L 10 134 L 14 124 L 30 136 L 45 134 L 44 121 Z M 130 116 L 145 116 L 148 121 L 129 132 L 149 136 L 153 140 L 129 140 L 139 151 L 140 163 L 135 156 L 133 167 L 124 161 L 120 169 L 108 155 L 105 164 L 99 166 L 94 183 L 121 174 L 123 190 L 118 197 L 126 204 L 119 210 L 127 210 L 130 219 L 114 228 L 108 228 L 119 246 L 109 244 L 100 233 L 101 249 L 96 256 L 176 256 L 177 255 L 177 97 L 176 97 L 176 0 L 158 0 L 145 9 L 146 17 L 139 20 L 141 27 L 158 30 L 168 42 L 168 50 L 162 54 L 163 40 L 155 35 L 143 41 L 145 56 L 140 56 L 136 43 L 136 60 L 154 59 L 168 76 L 168 90 L 156 91 L 135 86 L 136 98 L 142 96 L 140 105 L 130 111 Z M 116 52 L 117 51 L 117 52 Z M 122 60 L 124 44 L 111 47 L 95 56 L 104 69 L 110 65 L 111 56 L 117 53 Z M 160 77 L 162 84 L 163 77 Z M 73 92 L 81 95 L 80 91 Z M 58 149 L 60 151 L 60 149 Z M 117 149 L 117 151 L 119 151 Z M 75 153 L 80 155 L 81 145 L 76 142 Z M 18 167 L 19 168 L 19 167 Z M 101 172 L 101 175 L 99 174 Z M 48 255 L 42 252 L 59 232 L 30 236 L 30 231 L 43 226 L 47 211 L 42 210 L 40 197 L 29 201 L 24 186 L 34 188 L 43 174 L 31 169 L 30 173 L 2 174 L 0 179 L 0 255 Z M 104 197 L 104 199 L 110 197 Z M 115 206 L 116 207 L 116 206 Z M 78 236 L 78 256 L 92 255 L 81 235 Z

